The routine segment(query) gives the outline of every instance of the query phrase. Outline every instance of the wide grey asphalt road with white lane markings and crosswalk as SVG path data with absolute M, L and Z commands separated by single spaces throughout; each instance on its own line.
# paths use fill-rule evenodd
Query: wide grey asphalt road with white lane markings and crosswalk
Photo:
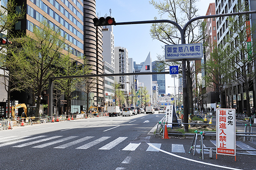
M 164 114 L 96 117 L 0 131 L 0 170 L 256 169 L 256 156 L 189 153 L 192 139 L 161 139 L 149 131 Z M 240 142 L 240 141 L 239 141 Z M 214 147 L 211 140 L 204 140 Z M 256 148 L 255 142 L 242 142 Z

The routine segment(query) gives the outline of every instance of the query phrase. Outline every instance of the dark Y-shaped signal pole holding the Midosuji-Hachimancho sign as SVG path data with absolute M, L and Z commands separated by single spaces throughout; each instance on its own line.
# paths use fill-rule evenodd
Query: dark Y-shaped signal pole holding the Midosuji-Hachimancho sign
M 256 11 L 245 11 L 245 12 L 235 12 L 230 14 L 217 14 L 217 15 L 207 15 L 195 17 L 189 20 L 183 28 L 180 27 L 178 23 L 175 23 L 171 20 L 148 20 L 148 21 L 132 21 L 132 22 L 123 22 L 123 23 L 115 23 L 113 25 L 130 25 L 130 24 L 147 24 L 147 23 L 171 23 L 180 31 L 181 44 L 186 44 L 185 34 L 186 29 L 195 20 L 207 19 L 207 18 L 215 18 L 215 17 L 226 17 L 226 16 L 234 16 L 234 15 L 243 15 L 243 14 L 255 14 Z M 181 59 L 182 61 L 182 85 L 183 85 L 183 113 L 184 113 L 184 123 L 189 123 L 189 109 L 188 109 L 188 92 L 187 92 L 187 83 L 186 83 L 186 59 Z M 186 132 L 189 131 L 188 125 L 184 125 L 184 129 Z

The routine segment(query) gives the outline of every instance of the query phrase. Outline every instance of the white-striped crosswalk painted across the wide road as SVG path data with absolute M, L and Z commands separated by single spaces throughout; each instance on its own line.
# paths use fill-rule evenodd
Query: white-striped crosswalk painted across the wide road
M 111 141 L 110 141 L 111 139 Z M 86 150 L 91 147 L 96 147 L 97 144 L 105 143 L 104 146 L 97 147 L 98 150 L 111 150 L 114 147 L 116 147 L 118 144 L 121 144 L 122 142 L 127 142 L 126 140 L 128 137 L 118 137 L 116 139 L 113 139 L 111 136 L 102 136 L 102 137 L 95 137 L 95 136 L 85 136 L 85 137 L 79 137 L 79 136 L 8 136 L 8 137 L 0 137 L 0 147 L 16 147 L 16 148 L 22 148 L 22 147 L 32 147 L 32 148 L 45 148 L 45 147 L 52 147 L 54 149 L 65 149 L 67 147 L 71 147 L 75 145 L 75 149 L 83 149 Z M 87 142 L 89 141 L 89 142 Z M 104 142 L 105 141 L 105 142 Z M 216 145 L 216 141 L 210 141 L 211 144 Z M 140 142 L 130 142 L 128 145 L 123 147 L 121 150 L 125 151 L 134 151 L 136 150 L 142 143 Z M 157 147 L 161 149 L 162 144 L 160 143 L 151 143 L 154 147 Z M 256 146 L 256 143 L 252 142 L 252 145 Z M 124 145 L 122 145 L 124 146 Z M 256 154 L 256 151 L 253 147 L 241 142 L 236 141 L 237 148 L 241 149 L 248 149 L 247 153 L 250 154 Z M 186 146 L 186 148 L 189 148 L 190 146 Z M 199 145 L 197 146 L 199 147 Z M 204 145 L 204 147 L 206 147 Z M 184 149 L 183 144 L 171 144 L 172 153 L 186 153 Z M 145 150 L 147 152 L 159 152 L 159 150 L 148 146 Z M 197 153 L 200 153 L 200 149 L 196 149 Z M 204 150 L 205 154 L 209 154 L 209 150 Z

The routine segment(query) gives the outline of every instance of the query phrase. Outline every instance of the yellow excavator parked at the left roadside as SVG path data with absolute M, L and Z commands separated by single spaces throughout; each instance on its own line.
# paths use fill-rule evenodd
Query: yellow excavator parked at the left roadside
M 18 108 L 23 108 L 24 109 L 24 114 L 21 115 L 21 118 L 26 118 L 30 117 L 31 119 L 35 119 L 35 108 L 36 106 L 29 106 L 29 113 L 28 113 L 28 108 L 26 107 L 25 103 L 20 103 L 18 105 L 12 106 L 12 117 L 15 117 L 15 109 Z

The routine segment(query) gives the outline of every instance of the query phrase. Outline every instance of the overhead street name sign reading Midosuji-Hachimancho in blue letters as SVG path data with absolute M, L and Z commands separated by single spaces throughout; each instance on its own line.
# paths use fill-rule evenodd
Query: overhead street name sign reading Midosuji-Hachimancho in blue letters
M 165 45 L 166 61 L 179 61 L 181 59 L 201 60 L 202 57 L 202 43 Z

